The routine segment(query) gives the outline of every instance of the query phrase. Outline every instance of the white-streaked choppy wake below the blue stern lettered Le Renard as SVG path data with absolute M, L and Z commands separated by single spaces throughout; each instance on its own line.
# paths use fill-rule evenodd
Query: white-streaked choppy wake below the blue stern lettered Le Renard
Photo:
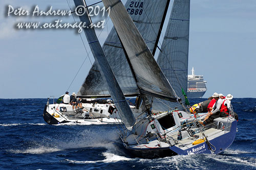
M 247 151 L 227 151 L 228 153 L 249 153 Z M 226 155 L 212 155 L 212 154 L 200 154 L 200 155 L 177 155 L 172 157 L 165 157 L 159 159 L 139 159 L 139 163 L 142 164 L 152 164 L 151 168 L 159 168 L 161 164 L 161 169 L 208 169 L 209 162 L 210 166 L 219 166 L 221 163 L 223 165 L 228 165 L 230 168 L 235 168 L 238 165 L 246 165 L 249 167 L 256 167 L 256 158 L 252 157 L 238 157 L 238 156 L 226 156 Z

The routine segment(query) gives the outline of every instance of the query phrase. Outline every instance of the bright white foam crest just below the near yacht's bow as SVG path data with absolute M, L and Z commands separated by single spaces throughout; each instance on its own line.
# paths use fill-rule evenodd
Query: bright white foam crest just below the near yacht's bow
M 77 161 L 77 160 L 69 160 L 66 159 L 66 161 L 70 163 L 97 163 L 97 162 L 104 162 L 104 163 L 113 163 L 118 161 L 131 161 L 135 160 L 135 158 L 126 158 L 124 156 L 115 155 L 108 152 L 103 152 L 102 155 L 105 157 L 103 160 L 96 160 L 96 161 Z

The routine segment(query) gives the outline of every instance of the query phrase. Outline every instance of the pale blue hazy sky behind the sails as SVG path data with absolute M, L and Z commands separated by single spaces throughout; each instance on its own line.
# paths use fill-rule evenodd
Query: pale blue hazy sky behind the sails
M 50 6 L 69 10 L 68 2 L 73 6 L 70 0 L 0 2 L 0 99 L 57 98 L 67 90 L 79 90 L 94 61 L 91 54 L 88 57 L 84 36 L 83 45 L 76 29 L 15 28 L 18 22 L 74 22 L 73 17 L 8 16 L 9 5 L 29 12 L 36 5 L 45 11 Z M 87 5 L 95 2 L 87 1 Z M 204 76 L 208 88 L 204 98 L 214 92 L 256 98 L 255 9 L 254 0 L 191 0 L 188 73 L 194 67 L 196 75 Z M 96 30 L 101 44 L 111 27 L 109 20 L 103 30 Z

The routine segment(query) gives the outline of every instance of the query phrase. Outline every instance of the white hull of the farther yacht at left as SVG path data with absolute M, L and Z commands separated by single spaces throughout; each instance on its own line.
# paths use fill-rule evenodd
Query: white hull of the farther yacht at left
M 68 104 L 48 104 L 44 109 L 44 119 L 50 125 L 69 122 L 95 125 L 122 123 L 113 104 L 83 103 L 82 106 L 83 109 L 73 110 Z

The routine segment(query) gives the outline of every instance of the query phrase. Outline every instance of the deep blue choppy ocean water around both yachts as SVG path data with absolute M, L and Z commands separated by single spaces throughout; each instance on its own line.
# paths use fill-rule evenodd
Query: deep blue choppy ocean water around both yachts
M 46 102 L 0 99 L 0 169 L 256 169 L 256 99 L 231 101 L 238 132 L 223 153 L 159 159 L 131 157 L 115 125 L 48 125 Z

